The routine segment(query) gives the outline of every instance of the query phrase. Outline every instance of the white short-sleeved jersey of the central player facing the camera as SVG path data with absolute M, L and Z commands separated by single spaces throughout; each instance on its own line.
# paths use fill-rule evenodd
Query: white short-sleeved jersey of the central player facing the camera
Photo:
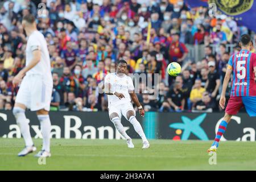
M 116 73 L 109 73 L 106 75 L 105 84 L 110 83 L 110 92 L 122 93 L 125 98 L 119 99 L 117 96 L 108 95 L 109 106 L 118 106 L 131 102 L 130 94 L 128 90 L 134 90 L 133 80 L 131 77 L 124 75 L 123 77 L 117 76 Z

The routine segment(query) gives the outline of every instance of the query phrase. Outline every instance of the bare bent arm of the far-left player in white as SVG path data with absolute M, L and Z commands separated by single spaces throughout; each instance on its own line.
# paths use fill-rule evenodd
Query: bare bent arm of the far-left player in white
M 38 49 L 35 49 L 34 51 L 32 51 L 32 55 L 33 55 L 33 58 L 30 61 L 30 64 L 28 64 L 27 67 L 24 67 L 22 70 L 20 70 L 18 75 L 16 75 L 13 78 L 14 86 L 18 85 L 19 82 L 22 80 L 23 76 L 26 75 L 26 73 L 28 71 L 30 71 L 30 69 L 34 68 L 36 64 L 39 63 L 39 61 L 41 59 L 41 51 L 40 51 L 39 47 L 38 47 Z

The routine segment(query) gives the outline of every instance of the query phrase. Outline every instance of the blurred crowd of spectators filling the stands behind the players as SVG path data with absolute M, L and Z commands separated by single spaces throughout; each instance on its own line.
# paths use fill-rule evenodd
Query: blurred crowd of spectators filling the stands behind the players
M 46 9 L 38 8 L 40 2 Z M 108 110 L 98 84 L 119 59 L 127 61 L 127 73 L 159 73 L 155 100 L 141 83 L 138 98 L 145 111 L 219 111 L 226 64 L 240 50 L 226 45 L 237 44 L 246 33 L 256 42 L 253 32 L 236 20 L 211 18 L 207 7 L 191 9 L 183 0 L 17 0 L 0 7 L 0 109 L 5 110 L 13 107 L 18 88 L 12 80 L 26 59 L 21 23 L 26 14 L 37 17 L 48 43 L 53 111 Z M 204 45 L 204 57 L 191 60 L 187 47 L 196 45 Z M 166 73 L 171 61 L 182 65 L 177 77 Z

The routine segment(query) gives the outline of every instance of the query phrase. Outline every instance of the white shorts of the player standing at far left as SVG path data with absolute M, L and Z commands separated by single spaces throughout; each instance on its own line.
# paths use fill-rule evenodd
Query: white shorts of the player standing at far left
M 47 83 L 40 75 L 24 76 L 15 102 L 24 104 L 31 111 L 45 109 L 49 111 L 52 98 L 51 82 Z

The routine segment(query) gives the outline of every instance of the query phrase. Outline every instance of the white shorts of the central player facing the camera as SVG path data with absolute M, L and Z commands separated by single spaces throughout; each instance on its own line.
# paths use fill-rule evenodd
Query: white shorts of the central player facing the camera
M 133 111 L 134 115 L 136 115 L 136 112 L 133 108 L 133 105 L 131 104 L 131 102 L 128 102 L 126 104 L 121 104 L 118 106 L 109 106 L 109 117 L 112 113 L 117 113 L 119 115 L 119 118 L 121 119 L 122 115 L 127 119 L 127 111 Z M 127 119 L 129 121 L 129 119 Z

